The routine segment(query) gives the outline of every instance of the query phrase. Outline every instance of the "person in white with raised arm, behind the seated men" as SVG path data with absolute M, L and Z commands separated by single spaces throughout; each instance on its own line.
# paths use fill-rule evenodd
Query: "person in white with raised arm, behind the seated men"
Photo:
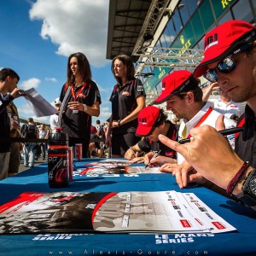
M 218 99 L 209 99 L 212 90 L 219 90 Z M 232 119 L 240 118 L 241 114 L 244 113 L 244 107 L 239 102 L 233 102 L 230 96 L 221 90 L 218 83 L 212 83 L 207 86 L 203 94 L 204 102 L 211 102 L 212 108 L 218 111 L 218 113 L 223 113 L 225 117 Z

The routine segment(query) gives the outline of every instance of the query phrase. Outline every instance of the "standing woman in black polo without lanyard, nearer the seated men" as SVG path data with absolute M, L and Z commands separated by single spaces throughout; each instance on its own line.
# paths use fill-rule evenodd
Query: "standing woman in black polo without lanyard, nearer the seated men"
M 126 150 L 139 141 L 135 136 L 137 114 L 145 107 L 146 95 L 142 81 L 134 76 L 135 68 L 130 56 L 114 57 L 111 70 L 117 84 L 110 96 L 112 115 L 106 143 L 112 147 L 113 157 L 124 157 Z

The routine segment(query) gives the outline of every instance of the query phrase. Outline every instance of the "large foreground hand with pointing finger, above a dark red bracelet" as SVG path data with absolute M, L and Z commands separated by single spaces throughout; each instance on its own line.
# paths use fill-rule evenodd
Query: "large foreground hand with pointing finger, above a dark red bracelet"
M 209 125 L 193 128 L 190 143 L 180 144 L 160 134 L 161 143 L 182 154 L 194 169 L 212 183 L 226 189 L 243 161 L 226 138 Z

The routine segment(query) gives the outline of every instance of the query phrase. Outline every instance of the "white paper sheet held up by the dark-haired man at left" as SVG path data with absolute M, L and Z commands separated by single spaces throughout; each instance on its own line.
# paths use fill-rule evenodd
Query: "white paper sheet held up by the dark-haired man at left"
M 49 116 L 56 113 L 56 109 L 47 102 L 43 96 L 41 96 L 37 90 L 31 88 L 25 90 L 26 92 L 26 102 L 32 111 L 35 113 L 36 117 Z

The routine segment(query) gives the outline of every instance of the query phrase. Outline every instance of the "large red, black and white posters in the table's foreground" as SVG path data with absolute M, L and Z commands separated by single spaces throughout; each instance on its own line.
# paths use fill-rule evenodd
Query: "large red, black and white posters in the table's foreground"
M 0 233 L 221 233 L 236 230 L 193 193 L 25 192 L 0 207 Z

